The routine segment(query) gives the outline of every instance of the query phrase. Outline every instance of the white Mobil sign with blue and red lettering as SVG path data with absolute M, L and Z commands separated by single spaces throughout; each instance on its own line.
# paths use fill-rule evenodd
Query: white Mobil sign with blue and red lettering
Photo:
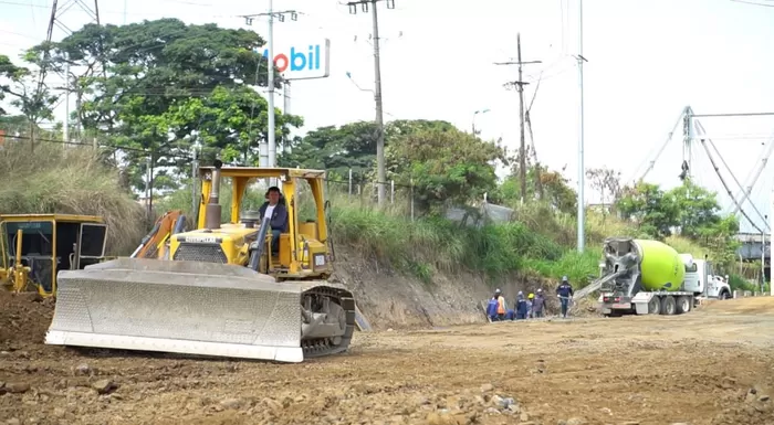
M 259 53 L 269 57 L 269 49 Z M 275 43 L 273 53 L 274 66 L 285 79 L 325 78 L 331 74 L 328 39 L 312 43 Z

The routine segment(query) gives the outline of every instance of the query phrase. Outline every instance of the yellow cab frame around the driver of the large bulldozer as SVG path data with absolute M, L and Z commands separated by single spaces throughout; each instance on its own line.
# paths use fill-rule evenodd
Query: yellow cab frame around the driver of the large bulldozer
M 219 172 L 213 179 L 216 170 Z M 203 230 L 213 226 L 220 216 L 208 219 L 208 204 L 213 192 L 213 180 L 220 184 L 220 180 L 231 182 L 231 202 L 227 205 L 230 211 L 230 224 L 242 224 L 245 227 L 254 227 L 258 236 L 263 216 L 259 211 L 245 211 L 243 200 L 249 185 L 258 179 L 272 179 L 280 189 L 279 203 L 285 206 L 287 221 L 279 237 L 279 251 L 272 253 L 272 233 L 266 232 L 266 247 L 263 251 L 262 261 L 258 272 L 274 276 L 279 280 L 327 278 L 333 268 L 330 266 L 330 238 L 326 225 L 326 202 L 324 198 L 325 171 L 306 170 L 295 168 L 255 168 L 255 167 L 201 167 L 199 169 L 201 180 L 201 198 L 197 229 Z M 304 199 L 311 199 L 313 212 L 306 219 L 300 217 L 300 191 L 307 189 Z M 219 188 L 216 193 L 219 193 Z M 217 196 L 217 195 L 216 195 Z M 266 192 L 266 201 L 269 193 Z M 258 209 L 255 209 L 258 210 Z M 212 211 L 212 210 L 210 210 Z M 218 215 L 219 212 L 211 212 Z M 273 230 L 273 229 L 272 229 Z

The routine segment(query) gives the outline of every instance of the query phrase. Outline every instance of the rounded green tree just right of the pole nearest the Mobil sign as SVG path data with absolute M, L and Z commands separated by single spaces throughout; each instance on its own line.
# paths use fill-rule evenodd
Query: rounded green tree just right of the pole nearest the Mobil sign
M 494 144 L 446 127 L 397 137 L 386 157 L 389 178 L 412 184 L 416 206 L 436 213 L 447 203 L 464 204 L 495 190 L 495 161 L 505 161 Z

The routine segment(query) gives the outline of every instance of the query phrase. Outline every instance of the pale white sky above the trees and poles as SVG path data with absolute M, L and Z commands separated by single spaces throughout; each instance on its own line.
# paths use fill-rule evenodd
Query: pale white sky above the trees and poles
M 60 0 L 69 4 L 72 0 Z M 83 0 L 90 3 L 87 0 Z M 586 0 L 583 3 L 585 167 L 608 167 L 628 182 L 640 178 L 665 145 L 686 106 L 695 114 L 774 111 L 774 1 Z M 12 59 L 45 39 L 52 0 L 0 0 L 0 54 Z M 579 86 L 578 0 L 395 0 L 379 3 L 385 119 L 443 119 L 481 137 L 519 148 L 519 98 L 503 84 L 517 79 L 521 33 L 534 142 L 541 162 L 564 170 L 577 184 Z M 474 6 L 473 6 L 474 4 Z M 268 0 L 103 0 L 103 23 L 159 18 L 251 28 L 265 36 L 265 19 L 248 26 L 244 14 L 268 10 Z M 771 6 L 771 7 L 768 7 Z M 369 13 L 351 14 L 336 0 L 274 0 L 274 10 L 296 10 L 297 21 L 274 24 L 278 46 L 331 41 L 330 76 L 292 84 L 291 113 L 305 119 L 301 132 L 326 125 L 373 120 L 374 57 Z M 60 21 L 77 29 L 90 21 L 74 4 Z M 66 33 L 55 29 L 53 39 Z M 347 77 L 347 72 L 352 78 Z M 537 84 L 540 82 L 540 85 Z M 537 93 L 535 94 L 535 88 Z M 282 106 L 281 97 L 276 105 Z M 72 106 L 71 106 L 72 108 Z M 489 109 L 474 115 L 475 110 Z M 64 115 L 60 107 L 57 116 Z M 774 144 L 774 116 L 702 117 L 699 120 L 720 174 L 732 193 L 749 187 Z M 529 142 L 529 139 L 527 139 Z M 682 125 L 646 181 L 680 184 Z M 728 167 L 726 167 L 728 164 Z M 702 145 L 692 147 L 694 180 L 719 192 L 733 211 Z M 586 182 L 586 201 L 600 195 Z M 740 216 L 743 232 L 766 232 L 772 214 L 774 164 L 764 168 Z

